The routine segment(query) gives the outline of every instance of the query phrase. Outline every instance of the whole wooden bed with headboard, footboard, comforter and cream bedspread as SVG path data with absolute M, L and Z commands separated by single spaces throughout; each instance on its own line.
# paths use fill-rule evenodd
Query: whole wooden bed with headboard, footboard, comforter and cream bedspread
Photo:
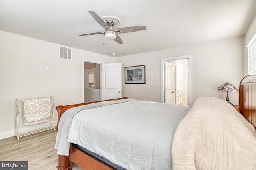
M 191 108 L 127 97 L 57 106 L 57 169 L 256 168 L 255 80 L 240 82 L 241 114 L 214 97 Z

